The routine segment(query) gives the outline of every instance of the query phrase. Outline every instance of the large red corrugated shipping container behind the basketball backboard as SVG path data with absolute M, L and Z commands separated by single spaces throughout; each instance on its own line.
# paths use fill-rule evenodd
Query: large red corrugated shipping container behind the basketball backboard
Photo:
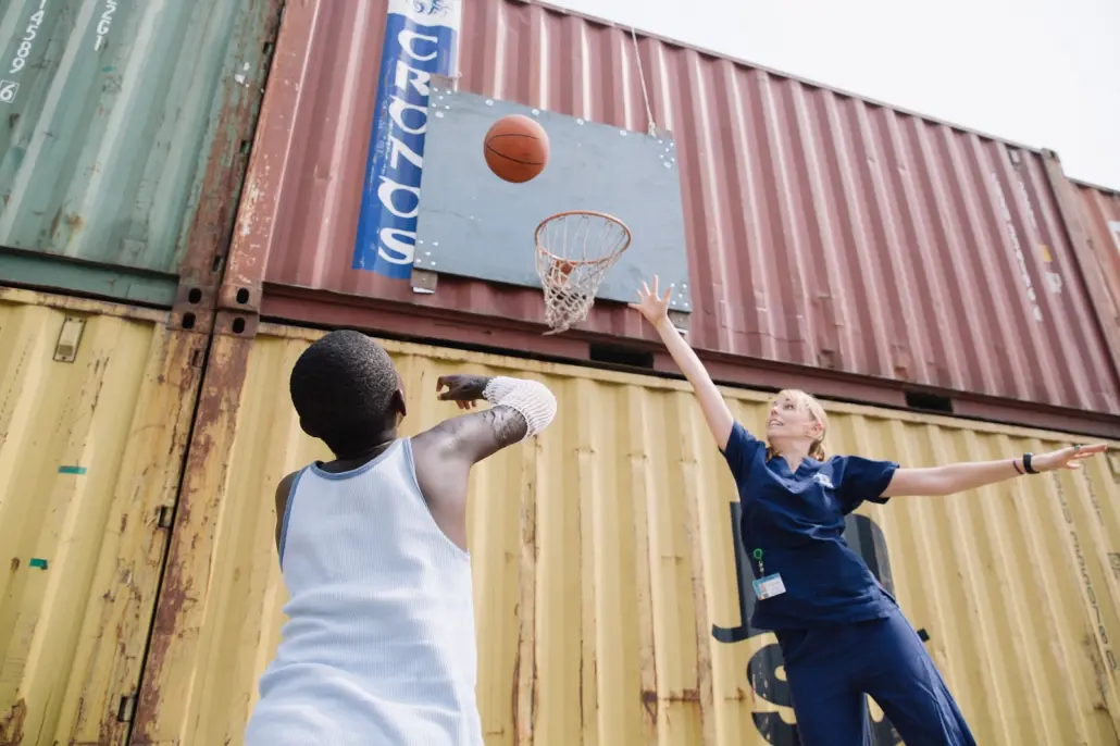
M 606 345 L 650 354 L 650 330 L 618 304 L 542 338 L 539 291 L 440 276 L 418 295 L 352 269 L 385 8 L 289 7 L 223 307 L 585 360 Z M 917 391 L 986 417 L 1033 402 L 1117 435 L 1117 363 L 1053 156 L 536 1 L 470 2 L 461 39 L 460 90 L 628 130 L 648 124 L 645 81 L 675 139 L 702 289 L 690 339 L 728 381 L 781 370 L 852 399 L 903 405 Z

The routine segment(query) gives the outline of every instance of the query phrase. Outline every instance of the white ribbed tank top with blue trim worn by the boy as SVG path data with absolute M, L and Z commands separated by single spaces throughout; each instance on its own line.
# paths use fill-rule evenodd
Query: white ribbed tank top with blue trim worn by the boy
M 412 444 L 296 478 L 290 600 L 246 746 L 482 746 L 470 558 L 436 525 Z

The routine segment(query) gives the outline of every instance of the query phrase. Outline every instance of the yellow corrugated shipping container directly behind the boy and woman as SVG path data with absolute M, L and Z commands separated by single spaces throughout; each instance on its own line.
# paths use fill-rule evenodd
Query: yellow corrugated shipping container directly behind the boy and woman
M 215 338 L 133 744 L 242 743 L 286 603 L 273 491 L 329 457 L 300 431 L 288 398 L 291 367 L 319 334 L 261 325 L 255 341 Z M 456 413 L 432 384 L 455 371 L 533 377 L 559 399 L 548 430 L 472 477 L 488 746 L 796 743 L 775 640 L 745 626 L 735 488 L 683 383 L 384 344 L 404 380 L 408 433 Z M 725 394 L 747 427 L 763 427 L 763 394 Z M 911 466 L 1068 442 L 828 409 L 832 450 Z M 850 519 L 850 541 L 927 637 L 979 743 L 1117 743 L 1120 454 L 1111 445 L 1082 472 L 899 497 Z M 876 731 L 879 746 L 898 743 L 889 726 Z

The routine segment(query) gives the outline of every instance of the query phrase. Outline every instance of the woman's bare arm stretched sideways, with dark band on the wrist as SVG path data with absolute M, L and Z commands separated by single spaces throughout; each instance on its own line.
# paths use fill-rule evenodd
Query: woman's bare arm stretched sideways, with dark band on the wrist
M 961 461 L 931 468 L 896 469 L 883 496 L 952 495 L 1024 474 L 1080 469 L 1082 459 L 1102 454 L 1107 448 L 1103 444 L 1072 446 L 1034 457 L 1024 455 L 998 461 Z

